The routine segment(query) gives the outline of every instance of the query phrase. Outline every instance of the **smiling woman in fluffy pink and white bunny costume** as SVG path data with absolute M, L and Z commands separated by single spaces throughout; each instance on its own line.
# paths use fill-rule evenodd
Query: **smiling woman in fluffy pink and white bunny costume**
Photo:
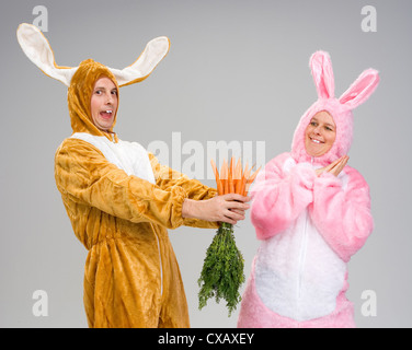
M 318 101 L 301 117 L 290 153 L 270 161 L 253 188 L 262 241 L 238 327 L 355 327 L 347 261 L 373 231 L 369 187 L 346 165 L 352 110 L 379 82 L 365 70 L 340 97 L 329 55 L 310 58 Z

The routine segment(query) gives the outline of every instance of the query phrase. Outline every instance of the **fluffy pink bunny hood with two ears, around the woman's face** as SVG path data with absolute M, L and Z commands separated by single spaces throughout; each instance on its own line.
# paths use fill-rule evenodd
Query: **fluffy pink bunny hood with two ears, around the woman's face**
M 312 160 L 312 156 L 306 152 L 305 130 L 318 112 L 325 110 L 336 125 L 336 139 L 329 152 L 312 160 L 313 163 L 324 166 L 347 154 L 353 138 L 352 110 L 374 93 L 379 83 L 379 74 L 375 69 L 365 70 L 341 97 L 335 98 L 332 61 L 329 54 L 314 52 L 309 66 L 317 88 L 318 101 L 300 118 L 291 143 L 291 156 L 296 162 Z

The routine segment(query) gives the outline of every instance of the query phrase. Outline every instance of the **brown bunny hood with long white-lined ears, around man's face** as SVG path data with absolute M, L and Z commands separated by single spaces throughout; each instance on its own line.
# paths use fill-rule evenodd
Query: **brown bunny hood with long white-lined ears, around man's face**
M 107 77 L 115 83 L 117 91 L 118 88 L 144 81 L 165 57 L 170 48 L 169 38 L 160 36 L 150 40 L 139 58 L 122 70 L 106 67 L 92 59 L 82 61 L 79 67 L 61 67 L 56 65 L 48 40 L 35 25 L 22 23 L 16 34 L 19 44 L 28 59 L 46 75 L 69 88 L 68 104 L 73 132 L 104 135 L 111 140 L 113 130 L 108 133 L 99 130 L 91 118 L 90 100 L 95 81 L 103 75 Z M 116 116 L 113 126 L 115 121 Z

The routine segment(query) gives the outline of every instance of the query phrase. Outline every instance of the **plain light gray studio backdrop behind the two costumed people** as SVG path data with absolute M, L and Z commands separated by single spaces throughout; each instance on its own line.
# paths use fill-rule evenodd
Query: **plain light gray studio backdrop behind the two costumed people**
M 43 23 L 36 5 L 47 10 Z M 366 5 L 376 16 L 363 14 Z M 336 95 L 364 69 L 378 69 L 378 90 L 355 110 L 350 153 L 369 183 L 376 228 L 350 261 L 347 296 L 359 327 L 412 326 L 410 0 L 3 0 L 0 7 L 0 326 L 87 327 L 87 250 L 54 179 L 54 153 L 71 132 L 67 89 L 23 55 L 15 38 L 21 22 L 47 25 L 61 66 L 94 58 L 124 68 L 149 39 L 167 35 L 170 52 L 152 75 L 121 89 L 115 131 L 209 186 L 210 147 L 234 141 L 258 163 L 289 151 L 317 97 L 308 66 L 313 51 L 330 52 Z M 197 278 L 214 234 L 170 231 L 192 326 L 236 327 L 238 312 L 229 318 L 224 302 L 197 308 Z M 236 237 L 248 277 L 259 247 L 249 214 Z

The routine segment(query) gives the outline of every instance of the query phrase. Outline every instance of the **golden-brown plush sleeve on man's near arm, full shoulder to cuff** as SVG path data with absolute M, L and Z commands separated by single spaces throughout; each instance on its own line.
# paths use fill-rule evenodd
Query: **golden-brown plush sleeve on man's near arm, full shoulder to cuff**
M 56 152 L 55 177 L 61 194 L 131 222 L 153 222 L 169 229 L 183 223 L 187 198 L 181 186 L 168 190 L 110 163 L 92 144 L 68 139 Z

